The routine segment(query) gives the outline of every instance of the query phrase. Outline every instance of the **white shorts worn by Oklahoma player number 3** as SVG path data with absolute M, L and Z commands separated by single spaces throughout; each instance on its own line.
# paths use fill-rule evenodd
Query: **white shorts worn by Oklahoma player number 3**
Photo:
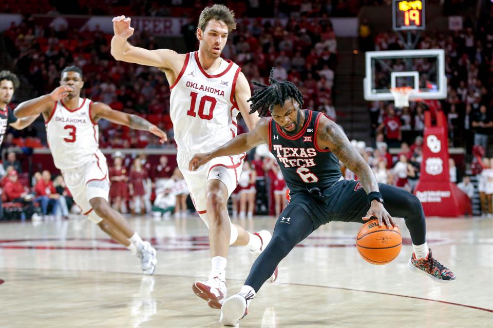
M 84 166 L 62 171 L 62 175 L 73 200 L 84 215 L 92 210 L 89 199 L 101 197 L 108 200 L 109 174 L 103 154 L 94 154 Z

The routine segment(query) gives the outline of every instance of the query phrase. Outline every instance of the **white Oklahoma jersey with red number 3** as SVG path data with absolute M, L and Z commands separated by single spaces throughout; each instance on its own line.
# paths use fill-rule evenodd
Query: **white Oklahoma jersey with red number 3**
M 59 170 L 83 167 L 94 155 L 104 158 L 99 150 L 98 125 L 91 118 L 91 104 L 90 99 L 79 98 L 79 107 L 70 110 L 63 101 L 57 101 L 45 123 L 48 147 Z

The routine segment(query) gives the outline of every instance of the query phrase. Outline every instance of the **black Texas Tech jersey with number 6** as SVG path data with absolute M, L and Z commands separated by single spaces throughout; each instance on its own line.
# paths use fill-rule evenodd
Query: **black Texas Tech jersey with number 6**
M 342 176 L 337 156 L 317 145 L 318 122 L 324 114 L 304 111 L 303 128 L 293 136 L 283 132 L 272 118 L 269 121 L 269 150 L 276 157 L 291 191 L 325 189 Z

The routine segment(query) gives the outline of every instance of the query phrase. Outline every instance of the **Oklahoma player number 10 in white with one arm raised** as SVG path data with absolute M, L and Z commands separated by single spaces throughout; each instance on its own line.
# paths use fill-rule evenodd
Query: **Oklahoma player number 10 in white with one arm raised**
M 236 115 L 241 113 L 249 130 L 259 120 L 249 114 L 250 85 L 238 65 L 220 57 L 228 34 L 236 29 L 234 13 L 222 5 L 205 8 L 199 17 L 199 50 L 179 54 L 169 49 L 146 50 L 131 46 L 134 33 L 130 18 L 113 18 L 115 36 L 111 54 L 117 60 L 160 68 L 171 92 L 170 115 L 178 145 L 177 162 L 195 208 L 209 229 L 212 270 L 206 281 L 196 281 L 194 292 L 211 308 L 220 308 L 226 296 L 225 269 L 229 245 L 243 245 L 259 254 L 271 240 L 262 230 L 256 234 L 231 224 L 227 199 L 235 190 L 245 154 L 219 157 L 189 171 L 195 152 L 213 150 L 236 136 Z M 273 275 L 273 279 L 277 273 Z

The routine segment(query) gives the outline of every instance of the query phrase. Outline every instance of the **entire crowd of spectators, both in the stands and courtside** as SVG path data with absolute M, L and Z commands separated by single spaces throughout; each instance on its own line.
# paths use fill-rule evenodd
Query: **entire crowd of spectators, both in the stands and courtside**
M 85 2 L 79 2 L 82 3 Z M 197 5 L 196 2 L 188 4 L 185 0 L 174 1 L 172 6 L 166 8 L 154 2 L 145 2 L 147 5 L 139 8 L 136 8 L 133 1 L 123 3 L 121 2 L 122 6 L 128 7 L 125 10 L 129 10 L 127 15 L 151 16 L 177 16 L 181 10 L 177 8 L 189 10 L 190 6 Z M 256 80 L 264 84 L 268 82 L 271 67 L 274 67 L 275 78 L 291 80 L 304 94 L 305 108 L 325 112 L 336 120 L 333 97 L 336 87 L 334 72 L 337 65 L 337 42 L 328 16 L 342 13 L 353 15 L 358 11 L 357 6 L 388 3 L 387 0 L 314 3 L 267 1 L 262 3 L 260 10 L 260 3 L 256 1 L 243 5 L 228 2 L 227 5 L 237 12 L 238 17 L 250 12 L 250 17 L 284 17 L 287 18 L 287 23 L 283 25 L 281 20 L 262 21 L 261 18 L 243 19 L 238 29 L 230 35 L 223 50 L 223 57 L 230 58 L 240 65 L 247 80 Z M 111 10 L 117 8 L 103 8 L 104 4 L 105 2 L 100 2 L 98 6 L 84 8 L 99 8 L 92 14 L 109 15 L 114 13 Z M 134 9 L 136 11 L 133 11 Z M 54 12 L 53 8 L 51 10 Z M 195 38 L 196 21 L 196 17 L 190 17 L 189 23 L 182 28 L 187 51 L 198 48 Z M 26 17 L 21 24 L 12 25 L 4 35 L 8 53 L 12 58 L 16 58 L 16 71 L 23 76 L 23 82 L 28 85 L 23 88 L 31 90 L 27 97 L 51 92 L 58 86 L 62 69 L 69 65 L 77 65 L 84 72 L 83 96 L 102 101 L 116 110 L 145 116 L 168 132 L 169 144 L 164 147 L 174 147 L 173 127 L 169 118 L 170 91 L 165 74 L 156 68 L 115 60 L 109 52 L 111 34 L 105 34 L 98 28 L 78 30 L 43 27 Z M 368 35 L 371 36 L 370 33 Z M 371 37 L 372 42 L 363 44 L 371 49 L 362 50 L 404 49 L 395 33 L 379 33 Z M 160 48 L 156 38 L 138 30 L 130 42 L 146 49 Z M 468 153 L 473 145 L 482 145 L 488 150 L 488 135 L 493 131 L 491 19 L 480 20 L 476 28 L 466 24 L 463 30 L 457 32 L 426 31 L 422 34 L 417 48 L 446 50 L 448 97 L 439 103 L 411 103 L 410 107 L 402 109 L 394 108 L 392 103 L 372 102 L 369 104 L 369 112 L 371 131 L 375 132 L 375 145 L 371 145 L 373 147 L 370 148 L 366 145 L 362 147 L 358 142 L 354 144 L 375 171 L 379 182 L 408 190 L 412 190 L 413 184 L 419 178 L 424 112 L 430 106 L 436 106 L 436 109 L 446 113 L 451 145 L 466 147 Z M 255 90 L 255 86 L 251 87 Z M 20 100 L 24 99 L 14 99 L 14 103 Z M 148 133 L 115 126 L 105 120 L 100 120 L 99 126 L 102 148 L 163 147 L 157 138 Z M 238 130 L 239 133 L 245 130 L 241 119 Z M 46 141 L 40 139 L 40 135 L 41 133 L 33 128 L 21 132 L 10 131 L 6 135 L 3 147 L 44 147 Z M 401 153 L 397 156 L 391 155 L 388 152 L 389 148 L 400 148 Z M 251 217 L 252 213 L 258 212 L 256 200 L 259 197 L 262 198 L 260 203 L 269 204 L 266 211 L 272 214 L 279 213 L 286 201 L 286 183 L 276 163 L 268 158 L 257 157 L 245 162 L 243 170 L 248 172 L 248 175 L 240 178 L 241 183 L 232 197 L 234 216 Z M 11 162 L 11 159 L 8 160 Z M 128 158 L 116 156 L 111 175 L 113 206 L 123 212 L 183 215 L 183 211 L 188 207 L 188 192 L 183 177 L 176 168 L 167 165 L 166 156 L 163 156 L 162 160 L 164 162 L 160 163 L 156 171 L 146 168 L 144 158 L 136 158 L 130 163 Z M 6 174 L 0 172 L 6 182 L 10 181 L 11 175 L 12 179 L 15 179 L 15 174 L 11 172 L 22 174 L 22 168 L 15 167 L 14 164 L 12 162 L 6 166 L 12 168 L 7 170 Z M 454 182 L 461 181 L 457 175 L 461 175 L 462 172 L 453 165 L 450 167 Z M 344 167 L 343 171 L 346 178 L 357 178 Z M 37 178 L 32 185 L 33 189 L 26 190 L 28 194 L 33 195 L 33 199 L 28 200 L 28 197 L 24 201 L 39 203 L 40 213 L 43 215 L 66 215 L 71 207 L 70 196 L 67 190 L 63 189 L 63 178 L 58 178 L 57 187 L 48 186 L 49 183 L 43 178 L 46 174 L 35 176 Z M 467 181 L 463 182 L 466 190 L 469 188 Z M 28 185 L 23 185 L 23 188 L 29 187 Z M 40 187 L 36 191 L 37 185 L 44 188 Z M 259 195 L 259 186 L 270 195 Z M 17 192 L 14 196 L 19 196 L 12 199 L 18 200 L 26 196 L 18 186 L 12 189 Z M 65 201 L 68 199 L 68 203 L 62 204 L 64 201 L 60 200 L 61 198 Z

